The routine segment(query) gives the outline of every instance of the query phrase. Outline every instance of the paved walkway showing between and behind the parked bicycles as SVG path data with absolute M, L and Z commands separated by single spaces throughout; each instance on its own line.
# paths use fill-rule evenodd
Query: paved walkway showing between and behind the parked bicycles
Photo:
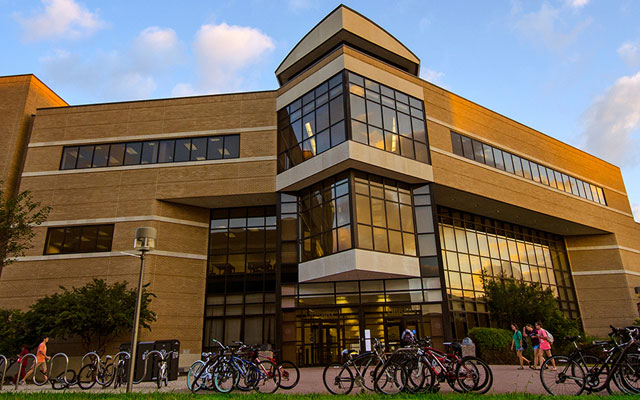
M 323 368 L 301 368 L 300 383 L 293 390 L 281 391 L 278 393 L 304 394 L 304 393 L 328 393 L 322 381 Z M 546 394 L 540 383 L 539 371 L 532 369 L 519 370 L 515 365 L 494 365 L 493 387 L 489 393 L 516 393 L 526 392 L 532 394 Z M 452 392 L 448 385 L 441 386 L 442 392 Z M 155 392 L 157 387 L 153 382 L 145 382 L 134 387 L 136 392 Z M 13 385 L 5 385 L 2 392 L 13 392 Z M 19 392 L 39 392 L 52 391 L 51 386 L 36 386 L 33 384 L 19 386 Z M 68 391 L 81 391 L 77 386 L 73 386 Z M 169 386 L 160 389 L 161 392 L 187 392 L 186 377 L 181 376 L 177 381 L 169 382 Z M 102 389 L 96 385 L 90 392 L 95 393 L 121 393 L 124 389 L 107 388 Z

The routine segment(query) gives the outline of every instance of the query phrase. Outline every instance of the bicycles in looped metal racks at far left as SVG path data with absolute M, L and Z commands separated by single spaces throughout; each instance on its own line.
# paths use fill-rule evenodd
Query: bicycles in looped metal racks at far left
M 82 357 L 78 372 L 69 368 L 69 357 L 65 353 L 57 353 L 52 357 L 38 359 L 36 354 L 27 353 L 20 357 L 7 359 L 0 355 L 0 389 L 7 376 L 7 371 L 12 365 L 17 364 L 19 372 L 14 378 L 16 389 L 25 381 L 32 381 L 37 386 L 47 383 L 55 390 L 68 389 L 74 386 L 87 390 L 96 384 L 103 388 L 113 386 L 118 388 L 125 386 L 129 373 L 130 354 L 120 351 L 113 357 L 110 355 L 101 358 L 96 352 L 89 352 Z M 169 383 L 168 363 L 171 358 L 177 358 L 178 352 L 167 350 L 151 350 L 142 353 L 143 373 L 134 384 L 141 383 L 151 373 L 158 389 L 162 384 L 166 387 Z M 151 368 L 151 369 L 150 369 Z M 18 375 L 19 374 L 19 375 Z

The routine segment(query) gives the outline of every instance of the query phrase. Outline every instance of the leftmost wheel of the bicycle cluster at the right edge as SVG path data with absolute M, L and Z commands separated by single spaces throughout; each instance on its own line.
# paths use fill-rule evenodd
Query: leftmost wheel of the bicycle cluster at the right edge
M 586 386 L 585 378 L 582 367 L 564 356 L 548 358 L 540 367 L 542 386 L 553 395 L 579 395 Z

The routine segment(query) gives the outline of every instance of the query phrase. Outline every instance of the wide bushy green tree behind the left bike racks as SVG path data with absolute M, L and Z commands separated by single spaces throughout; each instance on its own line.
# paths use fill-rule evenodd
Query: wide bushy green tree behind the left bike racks
M 86 285 L 62 290 L 35 302 L 26 313 L 0 310 L 0 324 L 5 327 L 6 339 L 0 341 L 11 348 L 0 348 L 4 354 L 17 352 L 21 343 L 37 344 L 42 336 L 56 339 L 79 338 L 85 350 L 103 353 L 105 346 L 118 336 L 131 331 L 137 293 L 127 282 L 107 284 L 94 279 Z M 156 314 L 150 305 L 155 295 L 143 288 L 140 326 L 151 329 Z M 6 315 L 6 317 L 5 317 Z M 0 331 L 0 334 L 4 331 Z M 3 335 L 4 336 L 4 335 Z

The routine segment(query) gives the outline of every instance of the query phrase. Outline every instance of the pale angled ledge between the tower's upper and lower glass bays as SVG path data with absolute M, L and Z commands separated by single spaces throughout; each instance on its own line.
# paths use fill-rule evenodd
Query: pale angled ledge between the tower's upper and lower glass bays
M 348 169 L 382 175 L 405 183 L 433 181 L 429 164 L 347 140 L 276 176 L 277 191 L 296 191 Z

